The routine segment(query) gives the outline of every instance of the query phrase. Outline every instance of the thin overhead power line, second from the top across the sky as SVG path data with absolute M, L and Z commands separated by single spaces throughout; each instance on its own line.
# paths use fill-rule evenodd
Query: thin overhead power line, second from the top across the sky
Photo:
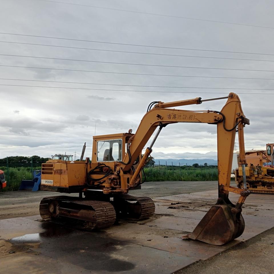
M 72 38 L 41 36 L 41 35 L 29 35 L 29 34 L 19 34 L 19 33 L 6 33 L 6 32 L 0 32 L 0 34 L 19 35 L 19 36 L 27 36 L 27 37 L 39 37 L 39 38 L 49 38 L 49 39 L 60 39 L 60 40 L 80 41 L 80 42 L 103 43 L 103 44 L 123 45 L 123 46 L 149 47 L 149 48 L 159 48 L 159 49 L 182 49 L 182 50 L 188 50 L 188 51 L 211 51 L 211 52 L 223 52 L 223 53 L 243 53 L 243 54 L 257 54 L 257 55 L 271 55 L 271 56 L 274 55 L 274 54 L 268 54 L 268 53 L 252 53 L 252 52 L 242 52 L 242 51 L 218 51 L 218 50 L 210 50 L 210 49 L 191 49 L 191 48 L 179 48 L 179 47 L 163 47 L 163 46 L 151 46 L 151 45 L 139 45 L 139 44 L 113 43 L 113 42 L 104 42 L 104 41 L 72 39 Z

